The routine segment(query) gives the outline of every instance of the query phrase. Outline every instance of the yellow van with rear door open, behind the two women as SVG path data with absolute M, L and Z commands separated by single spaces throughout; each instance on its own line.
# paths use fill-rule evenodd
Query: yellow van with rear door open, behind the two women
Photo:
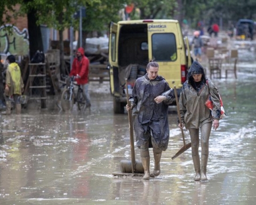
M 177 20 L 132 20 L 110 23 L 109 73 L 114 113 L 124 113 L 126 105 L 125 79 L 129 94 L 134 82 L 146 74 L 151 59 L 159 64 L 169 86 L 178 93 L 186 81 L 191 65 L 188 40 L 183 39 Z M 185 46 L 186 45 L 186 46 Z

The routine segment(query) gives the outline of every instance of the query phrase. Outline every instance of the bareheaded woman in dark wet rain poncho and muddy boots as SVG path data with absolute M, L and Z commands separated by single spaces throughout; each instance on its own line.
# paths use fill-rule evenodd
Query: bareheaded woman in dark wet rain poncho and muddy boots
M 162 151 L 169 142 L 168 107 L 174 99 L 173 90 L 165 79 L 158 75 L 159 65 L 151 61 L 147 65 L 146 75 L 135 81 L 130 97 L 136 146 L 144 168 L 143 180 L 149 180 L 149 148 L 153 147 L 155 167 L 153 176 L 158 176 Z M 130 107 L 126 105 L 126 109 Z

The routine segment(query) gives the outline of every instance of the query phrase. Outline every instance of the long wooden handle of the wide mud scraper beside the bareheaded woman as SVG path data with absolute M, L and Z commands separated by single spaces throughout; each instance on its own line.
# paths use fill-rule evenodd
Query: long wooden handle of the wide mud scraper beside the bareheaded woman
M 126 87 L 126 101 L 127 105 L 131 107 L 129 101 L 129 93 L 128 93 L 128 86 L 127 86 L 127 79 L 125 79 L 125 87 Z M 129 120 L 129 129 L 130 129 L 130 144 L 131 144 L 131 158 L 132 158 L 132 173 L 134 173 L 136 161 L 135 161 L 135 150 L 134 150 L 134 138 L 133 138 L 133 124 L 132 124 L 132 110 L 128 110 L 128 120 Z

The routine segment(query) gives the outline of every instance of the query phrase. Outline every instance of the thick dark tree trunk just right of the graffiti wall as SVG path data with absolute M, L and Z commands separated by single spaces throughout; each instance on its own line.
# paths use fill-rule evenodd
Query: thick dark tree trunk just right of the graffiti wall
M 33 58 L 37 50 L 43 52 L 43 40 L 40 25 L 37 25 L 37 17 L 35 10 L 29 10 L 28 18 L 28 33 L 29 33 L 29 56 Z

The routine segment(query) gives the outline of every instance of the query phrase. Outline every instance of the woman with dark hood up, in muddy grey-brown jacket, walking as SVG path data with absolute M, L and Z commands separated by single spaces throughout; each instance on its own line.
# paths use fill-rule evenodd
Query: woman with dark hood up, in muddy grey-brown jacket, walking
M 213 101 L 212 111 L 205 106 L 209 97 Z M 211 127 L 219 127 L 221 114 L 220 97 L 217 87 L 205 76 L 203 66 L 194 61 L 190 66 L 187 81 L 183 84 L 179 98 L 181 121 L 179 127 L 185 124 L 191 138 L 191 151 L 195 168 L 195 181 L 207 181 L 206 167 L 209 155 L 209 138 Z M 201 166 L 198 153 L 199 131 L 201 131 Z

